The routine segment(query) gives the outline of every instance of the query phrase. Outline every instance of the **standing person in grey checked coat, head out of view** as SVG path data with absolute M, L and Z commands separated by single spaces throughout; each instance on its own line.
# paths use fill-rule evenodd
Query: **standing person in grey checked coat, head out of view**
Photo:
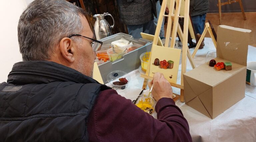
M 140 33 L 155 35 L 154 16 L 158 0 L 117 0 L 120 20 L 126 24 L 129 35 L 141 38 Z

